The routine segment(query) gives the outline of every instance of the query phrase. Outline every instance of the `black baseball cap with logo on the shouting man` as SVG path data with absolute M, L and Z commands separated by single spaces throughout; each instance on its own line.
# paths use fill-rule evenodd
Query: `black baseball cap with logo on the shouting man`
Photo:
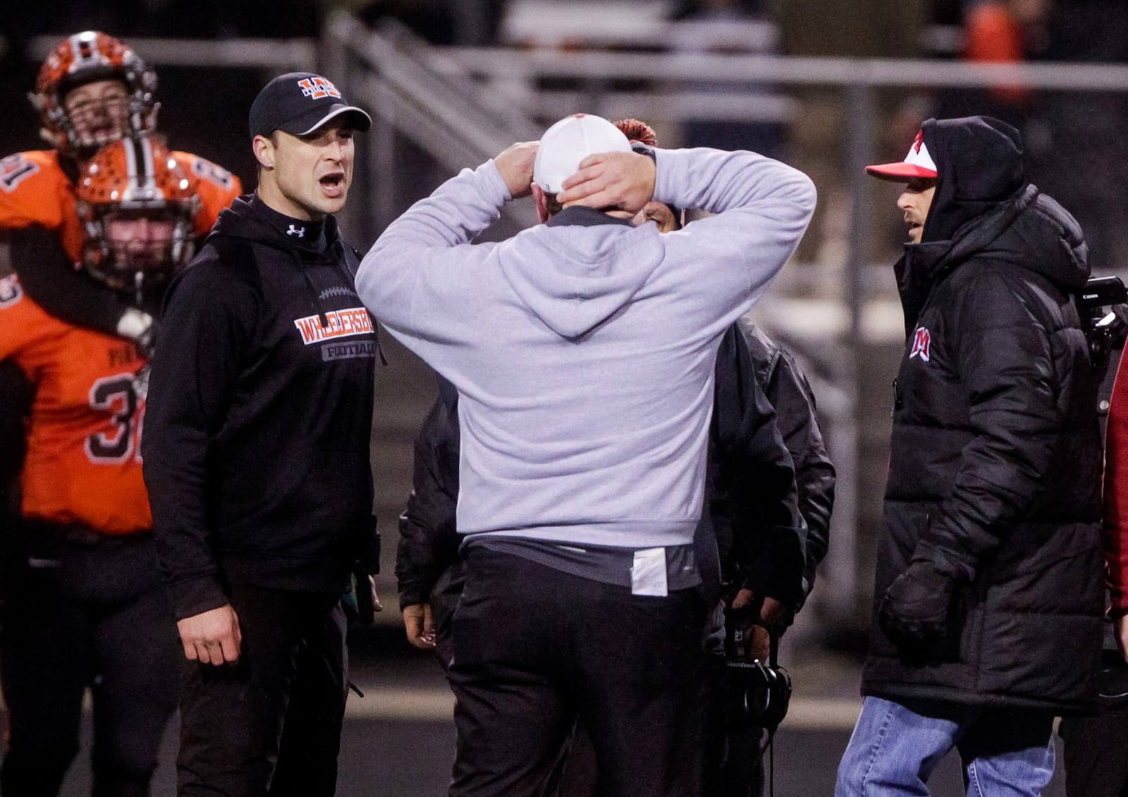
M 353 130 L 363 133 L 372 117 L 349 105 L 328 79 L 312 72 L 287 72 L 263 87 L 250 106 L 250 138 L 275 130 L 291 135 L 312 133 L 329 119 L 347 116 Z

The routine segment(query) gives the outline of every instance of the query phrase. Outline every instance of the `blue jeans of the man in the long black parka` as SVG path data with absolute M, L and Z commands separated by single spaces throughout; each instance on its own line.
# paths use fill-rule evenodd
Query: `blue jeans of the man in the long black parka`
M 1045 711 L 906 705 L 866 698 L 838 764 L 835 797 L 927 797 L 928 777 L 955 747 L 968 797 L 1038 797 L 1054 774 L 1054 717 Z

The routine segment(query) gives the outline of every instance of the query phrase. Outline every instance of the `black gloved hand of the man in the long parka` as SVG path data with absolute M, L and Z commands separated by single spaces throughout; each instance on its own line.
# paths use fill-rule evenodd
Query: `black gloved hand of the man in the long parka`
M 895 644 L 919 647 L 948 636 L 955 577 L 917 560 L 893 579 L 878 604 L 878 623 Z

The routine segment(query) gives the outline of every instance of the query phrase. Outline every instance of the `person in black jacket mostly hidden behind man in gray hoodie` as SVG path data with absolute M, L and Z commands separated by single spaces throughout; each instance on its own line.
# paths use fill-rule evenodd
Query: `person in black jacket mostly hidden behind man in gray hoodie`
M 677 228 L 676 218 L 666 205 L 650 203 L 636 223 L 655 221 L 667 231 L 667 227 Z M 408 641 L 421 648 L 437 647 L 444 665 L 451 656 L 450 618 L 462 584 L 455 524 L 457 400 L 453 387 L 440 380 L 439 397 L 415 441 L 414 489 L 399 519 L 396 561 Z M 760 621 L 782 630 L 779 626 L 790 622 L 810 593 L 814 568 L 826 554 L 834 482 L 834 467 L 822 444 L 807 378 L 791 355 L 751 322 L 733 325 L 717 353 L 708 512 L 695 535 L 703 590 L 708 603 L 719 610 L 712 623 L 712 721 L 704 745 L 707 795 L 744 797 L 763 789 L 758 768 L 761 733 L 749 729 L 726 738 L 722 594 L 728 593 L 732 602 L 738 587 L 743 586 L 749 591 L 741 603 L 754 594 L 765 596 Z M 802 523 L 807 556 L 800 559 L 795 557 L 800 550 L 795 528 Z M 766 661 L 767 631 L 764 626 L 751 630 L 764 632 L 763 638 L 754 637 L 751 655 Z M 584 734 L 574 734 L 564 767 L 554 772 L 555 791 L 549 792 L 592 794 L 596 777 L 590 743 Z

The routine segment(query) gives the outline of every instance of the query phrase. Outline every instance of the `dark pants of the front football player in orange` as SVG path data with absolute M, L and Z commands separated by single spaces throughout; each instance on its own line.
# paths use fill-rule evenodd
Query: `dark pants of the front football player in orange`
M 28 525 L 9 563 L 5 794 L 54 795 L 94 697 L 94 797 L 144 797 L 176 708 L 176 626 L 152 538 Z

